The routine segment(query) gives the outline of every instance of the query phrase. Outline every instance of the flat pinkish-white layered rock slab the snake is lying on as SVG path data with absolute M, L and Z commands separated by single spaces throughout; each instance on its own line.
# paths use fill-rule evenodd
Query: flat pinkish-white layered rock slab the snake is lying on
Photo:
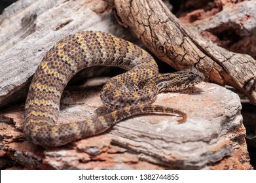
M 105 81 L 68 86 L 58 124 L 105 113 L 99 93 Z M 102 135 L 44 150 L 20 132 L 20 105 L 0 114 L 2 122 L 9 121 L 1 123 L 0 146 L 26 169 L 252 169 L 238 95 L 202 83 L 179 93 L 160 93 L 155 104 L 183 110 L 187 122 L 178 124 L 176 116 L 135 116 Z

